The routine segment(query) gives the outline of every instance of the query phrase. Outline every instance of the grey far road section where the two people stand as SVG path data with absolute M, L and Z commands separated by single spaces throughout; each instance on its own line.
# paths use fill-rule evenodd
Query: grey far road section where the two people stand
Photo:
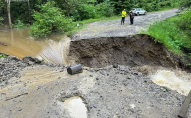
M 149 24 L 155 20 L 164 20 L 175 16 L 178 9 L 148 13 L 147 15 L 135 16 L 134 25 L 129 25 L 129 17 L 126 17 L 125 24 L 121 25 L 121 19 L 106 22 L 93 22 L 86 28 L 74 34 L 73 40 L 90 39 L 96 37 L 122 37 L 138 34 L 141 30 L 147 29 Z

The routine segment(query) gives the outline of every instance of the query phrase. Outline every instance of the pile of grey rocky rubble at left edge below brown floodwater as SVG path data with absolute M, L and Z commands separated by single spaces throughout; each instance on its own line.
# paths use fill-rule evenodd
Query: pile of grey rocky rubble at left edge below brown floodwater
M 22 60 L 15 56 L 0 58 L 0 87 L 5 87 L 9 84 L 9 79 L 12 77 L 20 78 L 20 72 L 28 66 L 45 65 L 45 63 L 34 57 L 24 57 Z M 47 66 L 55 67 L 55 64 L 47 63 Z

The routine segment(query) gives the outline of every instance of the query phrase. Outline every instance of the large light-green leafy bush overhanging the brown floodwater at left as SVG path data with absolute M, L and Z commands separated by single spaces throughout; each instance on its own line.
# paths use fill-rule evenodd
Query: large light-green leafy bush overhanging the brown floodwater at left
M 69 31 L 73 27 L 72 19 L 68 19 L 62 14 L 60 8 L 55 7 L 54 1 L 49 1 L 44 5 L 37 5 L 40 12 L 33 11 L 35 22 L 31 26 L 31 34 L 38 37 L 43 37 L 55 31 Z

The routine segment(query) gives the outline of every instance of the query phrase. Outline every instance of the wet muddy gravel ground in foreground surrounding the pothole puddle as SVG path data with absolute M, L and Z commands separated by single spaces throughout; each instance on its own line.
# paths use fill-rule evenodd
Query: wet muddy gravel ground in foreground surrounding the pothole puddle
M 83 68 L 73 76 L 64 66 L 25 68 L 25 76 L 0 90 L 0 117 L 71 118 L 64 102 L 80 97 L 88 118 L 175 118 L 185 99 L 128 66 Z M 6 101 L 23 93 L 28 94 Z

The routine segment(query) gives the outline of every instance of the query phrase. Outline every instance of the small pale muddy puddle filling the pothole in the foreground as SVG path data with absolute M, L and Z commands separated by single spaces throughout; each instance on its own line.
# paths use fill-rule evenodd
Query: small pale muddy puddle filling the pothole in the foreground
M 87 118 L 87 108 L 80 97 L 72 97 L 64 102 L 70 116 L 73 118 Z

